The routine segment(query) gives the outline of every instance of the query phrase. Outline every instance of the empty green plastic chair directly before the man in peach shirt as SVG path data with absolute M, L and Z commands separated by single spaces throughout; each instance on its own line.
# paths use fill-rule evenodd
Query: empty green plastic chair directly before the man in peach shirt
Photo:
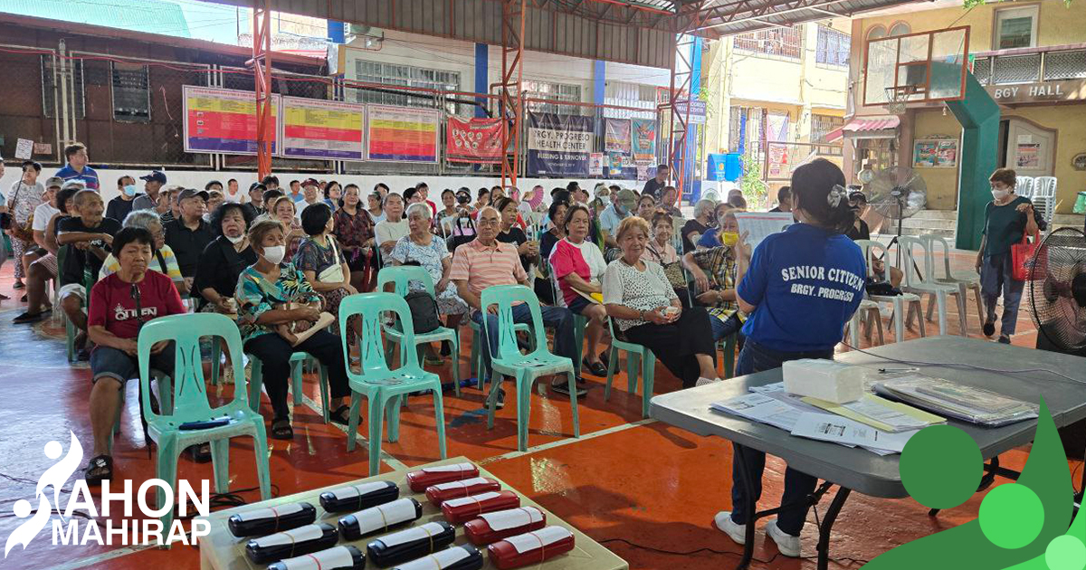
M 513 305 L 522 302 L 532 314 L 531 329 L 534 331 L 535 344 L 532 352 L 521 354 L 517 344 L 517 331 L 513 320 Z M 541 376 L 566 373 L 569 381 L 569 402 L 573 409 L 573 436 L 581 436 L 581 422 L 577 415 L 577 378 L 573 363 L 564 356 L 555 356 L 546 347 L 546 333 L 543 329 L 543 317 L 540 314 L 539 297 L 535 292 L 525 286 L 495 286 L 482 291 L 480 305 L 483 311 L 491 305 L 497 305 L 497 350 L 490 347 L 491 368 L 494 373 L 512 376 L 517 380 L 517 448 L 528 449 L 528 416 L 531 410 L 532 384 Z M 483 320 L 489 329 L 490 319 Z M 501 382 L 491 382 L 490 395 L 487 397 L 487 429 L 494 427 L 494 405 Z

